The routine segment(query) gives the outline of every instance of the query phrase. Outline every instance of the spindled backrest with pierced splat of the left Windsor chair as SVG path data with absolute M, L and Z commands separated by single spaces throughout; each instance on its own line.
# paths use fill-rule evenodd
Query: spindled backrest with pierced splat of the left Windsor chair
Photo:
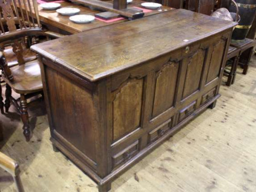
M 21 39 L 41 31 L 36 0 L 0 0 L 0 43 L 10 43 L 19 65 L 25 64 Z M 7 31 L 6 31 L 7 29 Z M 3 47 L 3 46 L 2 46 Z

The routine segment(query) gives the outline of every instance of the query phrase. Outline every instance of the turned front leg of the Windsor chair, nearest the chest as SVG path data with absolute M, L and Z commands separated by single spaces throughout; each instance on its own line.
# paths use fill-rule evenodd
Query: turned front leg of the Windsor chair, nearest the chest
M 30 127 L 29 127 L 29 117 L 28 117 L 28 103 L 25 98 L 25 94 L 20 95 L 20 112 L 21 119 L 23 122 L 23 134 L 26 138 L 26 141 L 30 139 Z

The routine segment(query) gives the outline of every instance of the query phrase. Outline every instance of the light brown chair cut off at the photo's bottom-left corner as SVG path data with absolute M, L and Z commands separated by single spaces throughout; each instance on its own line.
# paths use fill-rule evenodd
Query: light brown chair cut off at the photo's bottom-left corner
M 2 125 L 0 123 L 0 141 L 3 140 L 3 129 Z M 15 162 L 12 158 L 6 156 L 5 154 L 0 152 L 0 167 L 10 173 L 13 177 L 13 180 L 15 182 L 16 188 L 18 192 L 23 192 L 23 186 L 20 180 L 20 169 L 19 164 Z

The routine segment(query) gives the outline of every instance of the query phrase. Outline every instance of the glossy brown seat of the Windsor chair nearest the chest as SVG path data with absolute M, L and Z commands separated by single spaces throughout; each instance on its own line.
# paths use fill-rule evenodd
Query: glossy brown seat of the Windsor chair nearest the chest
M 12 67 L 11 71 L 13 81 L 9 81 L 4 75 L 3 79 L 12 87 L 13 91 L 19 94 L 28 94 L 43 90 L 41 71 L 37 60 Z

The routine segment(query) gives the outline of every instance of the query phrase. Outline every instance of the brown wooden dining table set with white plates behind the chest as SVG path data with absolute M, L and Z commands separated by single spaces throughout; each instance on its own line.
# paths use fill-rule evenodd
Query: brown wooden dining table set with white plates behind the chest
M 18 1 L 18 0 L 16 0 Z M 106 1 L 105 1 L 106 2 Z M 113 1 L 107 1 L 109 3 Z M 140 0 L 133 0 L 132 3 L 129 3 L 127 7 L 140 7 L 141 3 L 145 1 L 140 1 Z M 100 13 L 101 11 L 92 9 L 91 7 L 84 6 L 81 4 L 75 4 L 71 1 L 63 1 L 60 2 L 61 7 L 76 7 L 80 9 L 81 11 L 79 14 L 89 14 L 89 15 L 94 15 L 96 13 Z M 148 12 L 145 12 L 144 17 L 147 17 L 149 15 L 154 15 L 154 14 L 159 14 L 163 13 L 166 11 L 171 11 L 174 10 L 172 7 L 167 7 L 167 6 L 162 6 L 161 7 L 162 11 L 158 10 L 149 10 Z M 81 33 L 86 30 L 91 30 L 99 27 L 105 27 L 109 25 L 113 25 L 116 23 L 121 23 L 125 21 L 129 21 L 128 19 L 122 19 L 122 20 L 117 20 L 114 22 L 106 22 L 106 21 L 100 21 L 95 19 L 91 23 L 86 23 L 86 24 L 78 24 L 74 23 L 69 20 L 69 16 L 61 15 L 56 12 L 56 10 L 44 10 L 40 4 L 38 3 L 38 12 L 39 12 L 39 19 L 41 20 L 42 25 L 56 33 L 64 34 L 64 35 L 70 35 L 70 34 L 76 34 L 76 33 Z

